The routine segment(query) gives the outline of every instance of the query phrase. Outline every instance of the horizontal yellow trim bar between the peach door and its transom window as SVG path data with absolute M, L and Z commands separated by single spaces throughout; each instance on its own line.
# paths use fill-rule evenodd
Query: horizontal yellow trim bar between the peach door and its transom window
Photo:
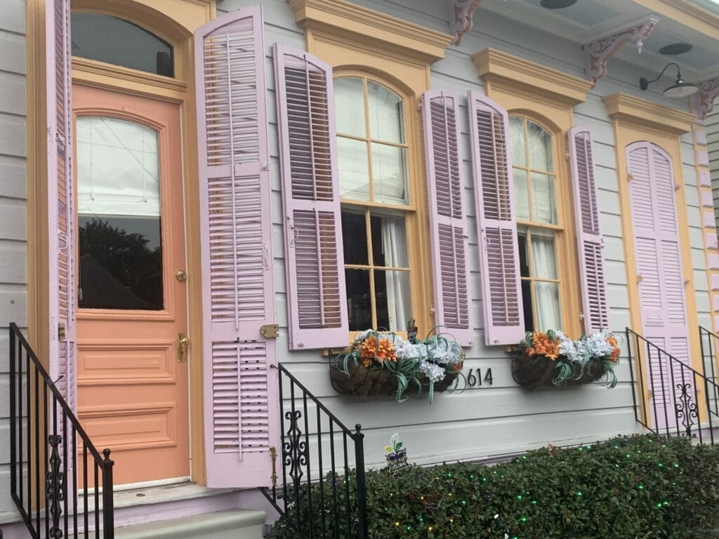
M 119 65 L 73 56 L 73 82 L 96 88 L 124 91 L 139 96 L 165 98 L 180 103 L 186 97 L 187 83 Z

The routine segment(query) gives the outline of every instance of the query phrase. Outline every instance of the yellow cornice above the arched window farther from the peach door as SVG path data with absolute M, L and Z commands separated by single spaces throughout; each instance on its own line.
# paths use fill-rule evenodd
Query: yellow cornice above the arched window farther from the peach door
M 480 50 L 472 55 L 472 60 L 485 82 L 504 86 L 511 93 L 522 93 L 533 102 L 544 98 L 550 103 L 576 105 L 586 101 L 592 88 L 589 80 L 492 48 Z

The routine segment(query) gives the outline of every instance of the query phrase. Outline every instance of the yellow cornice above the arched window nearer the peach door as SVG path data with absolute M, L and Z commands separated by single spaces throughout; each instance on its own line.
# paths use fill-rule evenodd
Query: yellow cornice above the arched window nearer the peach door
M 432 63 L 444 58 L 453 37 L 346 0 L 288 0 L 295 21 L 307 30 L 336 34 L 348 40 Z

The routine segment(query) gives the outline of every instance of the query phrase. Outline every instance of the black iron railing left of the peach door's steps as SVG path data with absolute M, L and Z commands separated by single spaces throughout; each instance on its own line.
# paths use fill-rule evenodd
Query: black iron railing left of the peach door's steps
M 14 323 L 9 359 L 10 489 L 30 535 L 113 539 L 110 450 L 93 446 Z

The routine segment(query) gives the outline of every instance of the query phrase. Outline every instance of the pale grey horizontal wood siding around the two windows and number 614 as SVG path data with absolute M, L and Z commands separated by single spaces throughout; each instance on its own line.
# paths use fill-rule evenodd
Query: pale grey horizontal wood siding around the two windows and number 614
M 447 31 L 446 7 L 435 0 L 412 2 L 357 0 L 355 4 L 442 32 Z M 243 0 L 224 0 L 218 11 L 231 11 L 247 4 Z M 413 9 L 404 6 L 411 5 Z M 263 0 L 267 71 L 271 73 L 270 46 L 280 42 L 305 47 L 304 31 L 295 24 L 285 0 Z M 470 55 L 485 47 L 495 47 L 530 60 L 582 76 L 582 56 L 577 47 L 561 39 L 531 32 L 503 22 L 497 17 L 482 21 L 475 14 L 475 29 L 464 37 L 461 47 L 450 47 L 446 57 L 432 66 L 431 88 L 457 91 L 460 101 L 461 144 L 464 167 L 464 199 L 475 200 L 472 188 L 469 126 L 467 124 L 467 90 L 481 90 L 482 83 Z M 614 67 L 614 66 L 613 66 Z M 633 80 L 631 69 L 625 72 Z M 398 405 L 385 397 L 347 397 L 338 395 L 329 382 L 328 359 L 318 351 L 288 351 L 287 306 L 283 272 L 283 229 L 280 197 L 277 129 L 273 106 L 273 77 L 268 77 L 270 96 L 270 167 L 273 185 L 273 241 L 275 246 L 275 289 L 277 322 L 280 324 L 278 359 L 321 398 L 347 425 L 361 423 L 365 430 L 365 451 L 369 463 L 383 462 L 383 448 L 395 431 L 406 441 L 411 459 L 429 463 L 445 459 L 468 459 L 509 453 L 546 443 L 563 444 L 607 438 L 616 433 L 638 431 L 632 410 L 629 367 L 623 358 L 616 369 L 619 384 L 614 390 L 594 385 L 527 392 L 512 379 L 510 356 L 502 347 L 484 345 L 484 315 L 480 289 L 480 264 L 476 234 L 476 209 L 467 204 L 467 230 L 470 238 L 470 290 L 472 317 L 475 320 L 475 346 L 467 349 L 464 372 L 470 369 L 492 369 L 494 385 L 468 388 L 464 392 L 435 397 L 434 405 L 426 399 L 410 400 Z M 623 251 L 613 127 L 601 97 L 625 90 L 603 79 L 590 93 L 586 103 L 575 108 L 574 124 L 587 124 L 595 142 L 596 180 L 601 207 L 600 225 L 605 239 L 606 275 L 612 329 L 621 333 L 630 323 L 626 267 Z M 654 98 L 654 96 L 652 96 Z M 661 102 L 661 98 L 658 99 Z M 677 103 L 672 103 L 676 106 Z M 696 179 L 690 178 L 696 185 Z M 569 185 L 569 178 L 567 178 Z M 698 211 L 693 208 L 692 211 Z M 693 222 L 693 221 L 692 221 Z M 697 230 L 698 231 L 698 230 Z M 701 234 L 692 234 L 692 247 L 701 249 Z M 429 241 L 415 238 L 411 241 Z M 700 264 L 700 257 L 695 257 Z M 703 264 L 703 262 L 702 262 Z M 698 266 L 697 266 L 698 268 Z M 695 268 L 695 269 L 697 269 Z M 705 290 L 705 289 L 704 289 Z M 704 292 L 705 293 L 705 292 Z M 707 305 L 707 302 L 704 302 Z M 708 305 L 707 305 L 708 306 Z M 577 305 L 577 313 L 580 306 Z

